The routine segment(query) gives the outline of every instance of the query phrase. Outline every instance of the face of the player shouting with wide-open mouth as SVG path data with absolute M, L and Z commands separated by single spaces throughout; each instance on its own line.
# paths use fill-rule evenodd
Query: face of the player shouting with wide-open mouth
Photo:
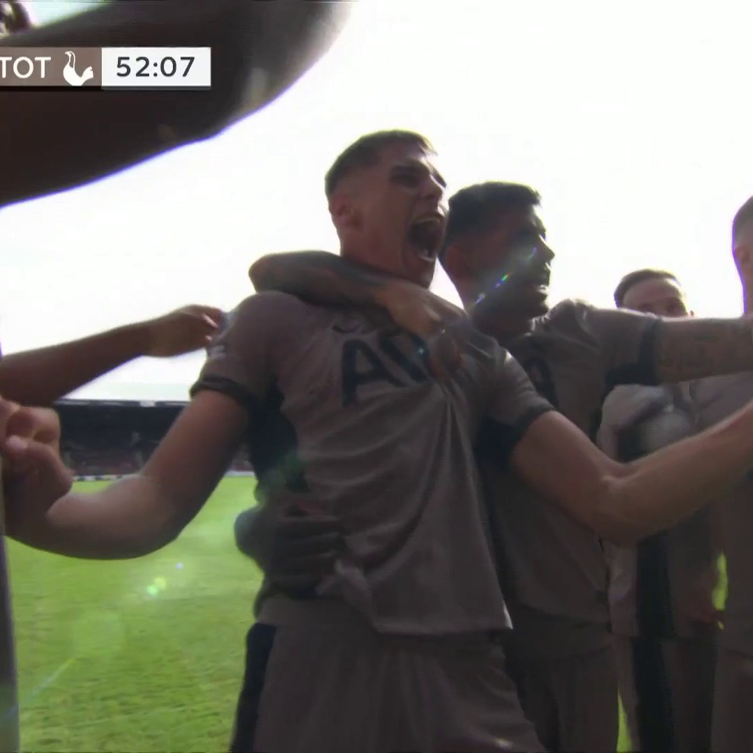
M 343 255 L 428 288 L 447 223 L 444 189 L 431 154 L 386 146 L 377 165 L 344 178 L 331 199 Z

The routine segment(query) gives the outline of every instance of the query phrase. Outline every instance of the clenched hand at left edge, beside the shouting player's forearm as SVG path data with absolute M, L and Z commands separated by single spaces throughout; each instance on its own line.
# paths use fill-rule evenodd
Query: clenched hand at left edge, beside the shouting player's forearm
M 34 520 L 66 495 L 73 474 L 60 457 L 60 422 L 53 410 L 0 399 L 0 454 L 8 530 Z

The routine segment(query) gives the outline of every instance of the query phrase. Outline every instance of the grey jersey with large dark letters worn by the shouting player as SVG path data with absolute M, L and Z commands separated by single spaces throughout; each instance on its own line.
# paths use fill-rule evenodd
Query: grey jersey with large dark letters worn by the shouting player
M 509 452 L 551 407 L 470 326 L 448 383 L 429 376 L 424 352 L 352 310 L 263 293 L 229 317 L 194 392 L 247 407 L 262 487 L 311 492 L 342 520 L 346 552 L 322 594 L 385 633 L 503 628 L 473 440 L 492 420 Z

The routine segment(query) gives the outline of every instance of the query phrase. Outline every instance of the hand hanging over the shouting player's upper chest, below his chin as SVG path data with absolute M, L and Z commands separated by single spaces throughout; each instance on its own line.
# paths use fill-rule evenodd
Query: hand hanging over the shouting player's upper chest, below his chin
M 418 335 L 428 348 L 428 362 L 437 379 L 458 367 L 465 311 L 419 285 L 396 280 L 385 285 L 377 300 L 398 327 Z

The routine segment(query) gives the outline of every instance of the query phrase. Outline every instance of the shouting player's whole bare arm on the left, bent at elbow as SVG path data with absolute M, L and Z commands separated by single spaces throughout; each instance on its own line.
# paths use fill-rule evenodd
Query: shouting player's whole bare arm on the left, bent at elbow
M 219 483 L 247 429 L 232 398 L 200 392 L 137 475 L 50 505 L 34 468 L 6 494 L 7 532 L 31 547 L 84 559 L 128 559 L 173 541 Z M 10 457 L 23 464 L 23 451 Z M 22 483 L 23 482 L 23 483 Z

